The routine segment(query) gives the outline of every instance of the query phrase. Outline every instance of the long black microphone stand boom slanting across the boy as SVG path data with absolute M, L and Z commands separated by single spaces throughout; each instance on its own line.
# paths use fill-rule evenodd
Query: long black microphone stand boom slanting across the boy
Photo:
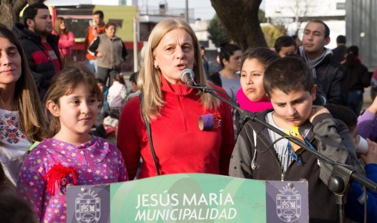
M 328 158 L 327 156 L 323 155 L 322 153 L 318 152 L 315 149 L 311 149 L 308 145 L 306 145 L 303 141 L 300 139 L 294 137 L 294 136 L 288 136 L 283 131 L 279 130 L 278 128 L 268 124 L 267 122 L 261 120 L 258 118 L 255 113 L 252 113 L 248 110 L 243 110 L 240 108 L 237 104 L 230 102 L 221 96 L 219 96 L 215 91 L 218 92 L 217 89 L 210 88 L 207 85 L 204 84 L 195 84 L 195 83 L 187 83 L 188 87 L 198 89 L 204 93 L 209 93 L 216 97 L 217 99 L 220 99 L 221 101 L 229 104 L 231 107 L 237 109 L 241 116 L 240 116 L 240 123 L 245 124 L 248 120 L 251 120 L 255 123 L 262 124 L 268 129 L 272 130 L 273 132 L 285 136 L 286 138 L 289 138 L 289 141 L 295 143 L 296 145 L 300 146 L 302 149 L 305 149 L 306 151 L 312 153 L 319 161 L 323 163 L 327 163 L 333 166 L 331 176 L 327 182 L 328 189 L 335 194 L 335 202 L 339 205 L 339 222 L 344 223 L 345 222 L 345 215 L 344 215 L 344 204 L 346 203 L 346 197 L 345 194 L 347 190 L 349 189 L 349 185 L 353 180 L 356 180 L 359 182 L 363 188 L 364 188 L 364 198 L 365 198 L 365 212 L 364 212 L 364 222 L 367 221 L 367 196 L 366 196 L 366 188 L 377 192 L 377 183 L 374 181 L 368 179 L 367 177 L 361 175 L 360 173 L 357 173 L 356 170 L 350 166 L 346 165 L 340 162 L 335 162 L 332 159 Z M 225 93 L 223 93 L 225 94 Z

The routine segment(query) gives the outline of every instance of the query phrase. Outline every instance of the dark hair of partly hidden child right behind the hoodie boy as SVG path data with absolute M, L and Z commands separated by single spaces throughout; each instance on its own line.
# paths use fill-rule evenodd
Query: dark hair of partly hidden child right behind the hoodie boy
M 323 107 L 327 108 L 332 117 L 343 121 L 347 125 L 348 129 L 352 130 L 352 128 L 356 127 L 356 114 L 349 107 L 337 104 L 325 104 Z

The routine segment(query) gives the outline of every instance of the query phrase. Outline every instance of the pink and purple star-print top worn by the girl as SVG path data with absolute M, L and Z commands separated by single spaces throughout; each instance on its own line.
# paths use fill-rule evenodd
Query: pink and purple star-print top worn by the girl
M 18 176 L 17 191 L 31 203 L 40 222 L 66 222 L 66 188 L 55 187 L 54 195 L 47 191 L 46 173 L 55 164 L 76 168 L 76 185 L 106 184 L 127 181 L 122 155 L 107 140 L 92 136 L 80 146 L 47 138 L 25 159 Z M 73 176 L 66 177 L 73 184 Z

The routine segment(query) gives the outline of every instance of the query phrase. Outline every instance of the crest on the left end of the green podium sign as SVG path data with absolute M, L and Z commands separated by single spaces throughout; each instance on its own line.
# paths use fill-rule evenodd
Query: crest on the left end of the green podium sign
M 76 198 L 76 220 L 79 223 L 97 223 L 101 217 L 101 198 L 94 191 L 78 194 Z

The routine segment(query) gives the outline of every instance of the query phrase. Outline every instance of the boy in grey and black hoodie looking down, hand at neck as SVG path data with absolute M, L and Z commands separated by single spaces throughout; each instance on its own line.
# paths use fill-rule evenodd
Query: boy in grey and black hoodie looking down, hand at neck
M 317 85 L 303 60 L 285 57 L 274 61 L 265 71 L 263 84 L 274 110 L 257 113 L 259 119 L 283 132 L 298 127 L 307 144 L 334 161 L 350 163 L 347 147 L 352 148 L 352 145 L 342 140 L 350 139 L 349 130 L 347 127 L 341 129 L 327 109 L 313 106 Z M 309 190 L 309 221 L 336 221 L 335 195 L 326 186 L 332 167 L 318 162 L 309 151 L 294 151 L 287 139 L 263 152 L 268 149 L 265 143 L 271 144 L 280 137 L 264 125 L 249 120 L 233 150 L 229 174 L 260 180 L 298 181 L 305 178 Z

